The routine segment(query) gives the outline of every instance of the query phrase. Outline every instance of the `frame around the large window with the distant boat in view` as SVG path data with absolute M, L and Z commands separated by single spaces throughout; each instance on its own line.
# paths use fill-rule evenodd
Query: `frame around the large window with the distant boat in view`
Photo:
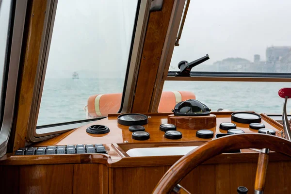
M 128 66 L 126 70 L 126 78 L 124 82 L 123 88 L 123 96 L 121 102 L 121 108 L 119 109 L 118 113 L 124 113 L 130 107 L 130 100 L 132 92 L 130 91 L 131 88 L 134 88 L 133 85 L 135 84 L 135 72 L 138 71 L 138 62 L 139 62 L 139 52 L 142 42 L 144 41 L 145 35 L 145 25 L 150 9 L 150 2 L 151 0 L 138 0 L 137 3 L 137 10 L 135 15 L 135 23 L 134 29 L 132 33 L 131 39 L 131 46 L 129 50 L 129 60 Z M 44 28 L 42 33 L 42 41 L 41 41 L 41 48 L 40 54 L 38 59 L 38 65 L 36 70 L 36 77 L 34 82 L 33 88 L 33 97 L 32 97 L 32 105 L 30 111 L 30 117 L 28 122 L 28 129 L 27 129 L 27 139 L 30 142 L 38 142 L 49 139 L 71 129 L 75 129 L 87 124 L 89 121 L 93 122 L 94 120 L 100 120 L 105 117 L 99 117 L 94 119 L 86 119 L 80 121 L 71 121 L 71 122 L 64 122 L 64 123 L 57 123 L 45 126 L 37 126 L 37 119 L 38 113 L 41 103 L 42 91 L 44 87 L 45 81 L 45 74 L 46 68 L 48 63 L 48 56 L 49 56 L 49 48 L 50 42 L 52 37 L 52 31 L 54 26 L 54 19 L 56 15 L 58 0 L 48 0 L 47 1 L 47 9 L 46 9 L 46 16 L 44 21 Z M 44 132 L 39 134 L 36 133 L 36 129 L 41 129 Z

